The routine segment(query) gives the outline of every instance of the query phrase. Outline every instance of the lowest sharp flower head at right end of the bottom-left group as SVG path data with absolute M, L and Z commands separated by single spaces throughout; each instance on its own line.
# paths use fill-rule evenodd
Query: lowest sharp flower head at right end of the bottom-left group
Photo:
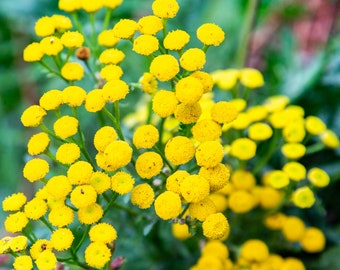
M 92 242 L 85 249 L 85 261 L 89 266 L 102 268 L 110 261 L 111 251 L 102 242 Z

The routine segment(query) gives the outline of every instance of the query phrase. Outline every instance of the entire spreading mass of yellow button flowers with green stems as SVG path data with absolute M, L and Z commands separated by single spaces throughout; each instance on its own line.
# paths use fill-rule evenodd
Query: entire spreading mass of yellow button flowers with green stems
M 283 210 L 312 207 L 316 190 L 328 185 L 324 170 L 305 168 L 299 159 L 310 151 L 307 142 L 337 148 L 336 134 L 285 96 L 248 104 L 249 91 L 264 84 L 255 69 L 202 71 L 208 48 L 225 38 L 216 24 L 197 28 L 202 48 L 187 48 L 189 33 L 167 30 L 180 8 L 176 0 L 154 0 L 152 15 L 120 19 L 110 28 L 121 3 L 59 0 L 77 30 L 64 15 L 36 22 L 41 40 L 25 48 L 24 60 L 42 64 L 66 86 L 46 91 L 22 113 L 25 127 L 40 129 L 28 141 L 31 159 L 23 168 L 39 189 L 33 198 L 18 192 L 2 202 L 9 212 L 5 229 L 15 235 L 0 240 L 0 254 L 11 253 L 14 269 L 22 270 L 57 263 L 107 267 L 119 237 L 119 221 L 109 213 L 124 197 L 125 208 L 151 209 L 154 219 L 171 221 L 176 238 L 206 239 L 192 269 L 305 269 L 296 258 L 270 253 L 259 239 L 244 242 L 232 261 L 227 216 L 262 209 L 265 227 L 307 252 L 321 251 L 322 231 Z M 98 32 L 99 10 L 106 16 Z M 78 20 L 83 11 L 92 22 L 89 35 Z M 126 41 L 150 59 L 135 83 L 122 79 L 125 53 L 118 45 Z M 78 84 L 85 79 L 93 79 L 90 87 Z M 142 90 L 143 104 L 131 105 L 135 111 L 121 119 L 120 101 L 129 100 L 134 88 Z M 82 125 L 92 115 L 100 124 L 87 137 Z M 274 156 L 281 157 L 277 168 L 267 166 Z M 36 234 L 37 221 L 49 232 Z

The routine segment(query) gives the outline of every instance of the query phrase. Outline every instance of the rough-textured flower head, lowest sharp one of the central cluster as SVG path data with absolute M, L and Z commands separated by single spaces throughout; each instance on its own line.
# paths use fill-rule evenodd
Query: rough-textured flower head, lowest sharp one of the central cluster
M 229 222 L 222 213 L 214 213 L 202 223 L 203 235 L 208 239 L 218 240 L 228 237 L 230 232 Z

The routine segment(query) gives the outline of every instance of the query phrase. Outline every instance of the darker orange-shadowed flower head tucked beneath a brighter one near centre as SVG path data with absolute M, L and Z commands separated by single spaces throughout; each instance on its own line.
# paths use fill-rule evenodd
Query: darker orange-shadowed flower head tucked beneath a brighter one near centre
M 195 123 L 201 116 L 201 113 L 202 108 L 198 102 L 193 104 L 178 104 L 174 112 L 176 119 L 183 124 Z

